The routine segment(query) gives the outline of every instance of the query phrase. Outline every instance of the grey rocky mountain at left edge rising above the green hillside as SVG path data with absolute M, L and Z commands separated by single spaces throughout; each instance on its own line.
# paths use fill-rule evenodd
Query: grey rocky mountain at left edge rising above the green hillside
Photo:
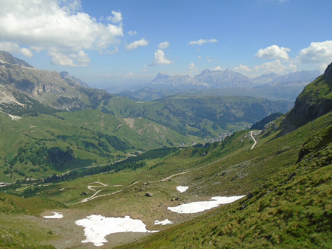
M 0 58 L 0 110 L 5 113 L 82 110 L 98 105 L 94 99 L 111 96 L 105 90 L 82 87 L 69 74 L 61 77 L 56 71 L 34 68 L 8 52 L 0 51 Z

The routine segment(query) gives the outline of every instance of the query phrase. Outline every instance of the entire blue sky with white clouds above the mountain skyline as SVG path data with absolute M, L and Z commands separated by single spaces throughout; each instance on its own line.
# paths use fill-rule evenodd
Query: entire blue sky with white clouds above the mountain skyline
M 0 50 L 92 87 L 332 62 L 331 0 L 0 0 Z M 112 82 L 112 83 L 111 83 Z

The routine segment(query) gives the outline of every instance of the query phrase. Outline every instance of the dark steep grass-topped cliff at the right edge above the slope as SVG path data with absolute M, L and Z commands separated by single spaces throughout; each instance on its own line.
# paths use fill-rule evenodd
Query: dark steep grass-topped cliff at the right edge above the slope
M 307 85 L 281 124 L 282 134 L 332 111 L 332 63 L 325 73 Z

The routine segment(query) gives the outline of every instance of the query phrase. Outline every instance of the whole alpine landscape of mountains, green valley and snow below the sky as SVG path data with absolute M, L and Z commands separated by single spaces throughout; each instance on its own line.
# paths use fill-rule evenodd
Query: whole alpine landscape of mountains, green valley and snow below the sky
M 331 248 L 331 90 L 332 63 L 111 94 L 0 51 L 0 247 Z

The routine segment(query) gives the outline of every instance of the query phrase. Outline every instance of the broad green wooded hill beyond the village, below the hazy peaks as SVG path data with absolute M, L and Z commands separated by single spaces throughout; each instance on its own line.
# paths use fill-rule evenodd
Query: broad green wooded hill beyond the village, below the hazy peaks
M 291 103 L 243 96 L 180 94 L 153 102 L 112 98 L 105 101 L 105 106 L 120 117 L 143 117 L 182 134 L 212 138 L 246 128 L 271 113 L 287 112 Z

